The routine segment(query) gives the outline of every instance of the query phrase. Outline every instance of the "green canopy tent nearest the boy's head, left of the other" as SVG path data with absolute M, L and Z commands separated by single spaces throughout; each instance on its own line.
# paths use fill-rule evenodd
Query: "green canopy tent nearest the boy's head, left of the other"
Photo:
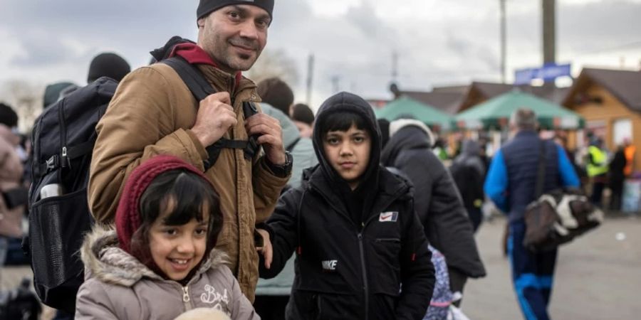
M 417 119 L 429 127 L 439 129 L 452 129 L 454 117 L 437 110 L 435 107 L 418 102 L 410 97 L 400 97 L 382 109 L 375 110 L 377 118 L 394 121 L 396 119 Z

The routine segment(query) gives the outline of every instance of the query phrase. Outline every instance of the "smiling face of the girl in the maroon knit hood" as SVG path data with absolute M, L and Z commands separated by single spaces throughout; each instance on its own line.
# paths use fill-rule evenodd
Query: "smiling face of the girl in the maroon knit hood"
M 171 201 L 167 207 L 174 207 Z M 203 212 L 209 212 L 204 209 Z M 204 256 L 208 217 L 202 222 L 192 219 L 185 225 L 165 225 L 165 216 L 170 212 L 165 211 L 150 228 L 150 252 L 160 270 L 170 279 L 179 281 L 187 277 Z

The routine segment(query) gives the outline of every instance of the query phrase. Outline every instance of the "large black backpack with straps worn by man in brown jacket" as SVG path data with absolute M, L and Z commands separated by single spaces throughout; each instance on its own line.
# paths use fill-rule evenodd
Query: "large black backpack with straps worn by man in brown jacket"
M 200 70 L 182 58 L 161 62 L 176 70 L 197 101 L 215 92 Z M 87 186 L 97 138 L 95 126 L 105 114 L 116 87 L 118 82 L 103 77 L 46 107 L 36 119 L 31 137 L 31 213 L 23 246 L 31 260 L 38 297 L 44 304 L 71 314 L 75 312 L 75 296 L 84 280 L 79 250 L 85 233 L 94 223 Z M 253 104 L 244 104 L 245 117 L 256 112 Z M 207 148 L 206 169 L 214 164 L 222 148 L 244 149 L 245 157 L 251 159 L 259 145 L 254 137 L 249 141 L 221 139 Z M 41 198 L 41 193 L 53 196 Z

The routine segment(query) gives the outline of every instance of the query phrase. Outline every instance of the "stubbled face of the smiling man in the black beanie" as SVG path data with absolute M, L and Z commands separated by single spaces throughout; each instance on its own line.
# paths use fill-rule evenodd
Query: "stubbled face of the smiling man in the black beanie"
M 270 22 L 258 6 L 224 6 L 199 19 L 198 45 L 227 73 L 249 70 L 265 48 Z

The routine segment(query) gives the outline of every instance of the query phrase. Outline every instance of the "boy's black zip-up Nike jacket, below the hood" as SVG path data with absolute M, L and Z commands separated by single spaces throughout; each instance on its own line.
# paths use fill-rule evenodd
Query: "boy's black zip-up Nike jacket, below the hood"
M 286 318 L 422 319 L 434 267 L 408 183 L 381 169 L 382 190 L 361 227 L 319 171 L 285 193 L 269 219 L 273 262 L 270 270 L 261 262 L 261 277 L 275 277 L 297 251 Z

